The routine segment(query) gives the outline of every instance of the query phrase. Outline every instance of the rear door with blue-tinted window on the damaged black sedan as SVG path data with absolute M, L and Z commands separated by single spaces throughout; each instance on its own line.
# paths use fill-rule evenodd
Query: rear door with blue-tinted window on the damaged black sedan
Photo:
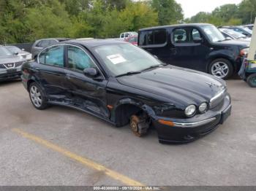
M 66 91 L 64 72 L 64 45 L 48 47 L 38 55 L 39 75 L 46 93 L 53 98 L 59 99 Z

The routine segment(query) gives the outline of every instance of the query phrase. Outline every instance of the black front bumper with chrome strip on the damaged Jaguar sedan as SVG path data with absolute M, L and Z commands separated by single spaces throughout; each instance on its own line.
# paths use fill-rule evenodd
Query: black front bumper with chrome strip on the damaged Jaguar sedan
M 225 122 L 231 114 L 230 99 L 225 101 L 220 109 L 208 110 L 205 114 L 197 114 L 195 117 L 187 119 L 170 119 L 157 117 L 153 120 L 154 127 L 157 129 L 160 143 L 187 143 L 195 141 L 201 136 L 205 136 L 215 130 L 218 125 Z M 163 125 L 158 120 L 173 122 L 173 126 Z

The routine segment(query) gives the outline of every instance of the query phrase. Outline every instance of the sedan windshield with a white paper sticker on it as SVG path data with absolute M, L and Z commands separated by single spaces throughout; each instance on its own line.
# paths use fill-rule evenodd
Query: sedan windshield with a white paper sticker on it
M 132 44 L 102 45 L 95 47 L 94 51 L 115 76 L 140 72 L 162 64 L 153 55 Z

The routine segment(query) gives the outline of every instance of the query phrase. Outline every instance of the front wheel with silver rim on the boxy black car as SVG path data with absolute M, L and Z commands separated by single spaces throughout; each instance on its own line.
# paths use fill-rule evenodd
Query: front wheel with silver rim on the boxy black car
M 219 77 L 222 79 L 228 79 L 233 75 L 233 66 L 230 61 L 225 58 L 219 58 L 210 63 L 209 74 L 214 77 Z

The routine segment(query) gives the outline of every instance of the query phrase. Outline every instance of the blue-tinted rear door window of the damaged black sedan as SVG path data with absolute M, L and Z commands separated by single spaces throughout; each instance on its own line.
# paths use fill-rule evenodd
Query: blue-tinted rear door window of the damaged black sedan
M 50 66 L 64 67 L 64 45 L 47 48 L 43 50 L 39 57 L 39 63 Z

